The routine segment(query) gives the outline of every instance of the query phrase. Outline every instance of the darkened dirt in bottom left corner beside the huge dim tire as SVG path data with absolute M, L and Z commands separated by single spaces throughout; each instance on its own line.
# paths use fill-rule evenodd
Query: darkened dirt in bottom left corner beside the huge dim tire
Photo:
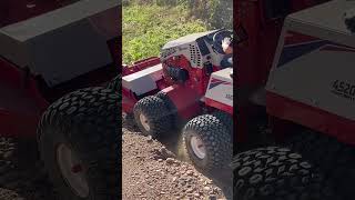
M 41 164 L 33 162 L 34 148 L 32 141 L 0 138 L 0 200 L 55 200 Z

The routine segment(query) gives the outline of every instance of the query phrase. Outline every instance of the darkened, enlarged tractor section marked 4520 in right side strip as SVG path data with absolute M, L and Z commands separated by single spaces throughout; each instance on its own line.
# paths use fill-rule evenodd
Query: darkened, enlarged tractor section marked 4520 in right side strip
M 235 7 L 234 199 L 354 199 L 355 2 Z

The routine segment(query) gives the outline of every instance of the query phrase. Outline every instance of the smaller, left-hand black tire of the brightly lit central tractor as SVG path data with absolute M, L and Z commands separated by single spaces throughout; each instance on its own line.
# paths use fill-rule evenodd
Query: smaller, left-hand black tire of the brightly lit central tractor
M 133 108 L 134 120 L 145 136 L 159 138 L 171 132 L 173 119 L 165 102 L 154 96 L 148 96 L 139 100 Z M 149 128 L 144 128 L 141 114 L 145 117 Z

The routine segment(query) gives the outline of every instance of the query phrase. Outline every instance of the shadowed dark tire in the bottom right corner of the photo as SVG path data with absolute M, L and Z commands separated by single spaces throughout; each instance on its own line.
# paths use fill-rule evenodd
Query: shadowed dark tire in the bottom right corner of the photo
M 306 130 L 293 137 L 288 147 L 311 160 L 334 183 L 344 200 L 355 196 L 355 148 L 324 133 Z

